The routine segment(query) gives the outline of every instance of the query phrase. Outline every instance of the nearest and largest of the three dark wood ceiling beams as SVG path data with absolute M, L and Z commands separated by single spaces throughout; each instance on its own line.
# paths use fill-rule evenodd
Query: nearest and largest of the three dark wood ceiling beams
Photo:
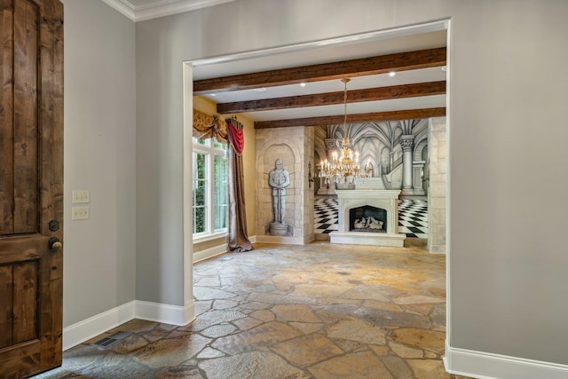
M 445 65 L 446 47 L 439 47 L 312 66 L 196 80 L 193 82 L 193 94 L 204 95 L 226 91 L 252 90 L 285 84 L 311 83 L 343 77 L 378 75 L 390 71 L 406 71 Z

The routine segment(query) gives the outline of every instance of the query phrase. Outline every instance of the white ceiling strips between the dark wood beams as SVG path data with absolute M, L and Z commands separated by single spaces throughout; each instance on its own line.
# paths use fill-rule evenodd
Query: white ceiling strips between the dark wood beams
M 438 29 L 437 29 L 438 28 Z M 442 30 L 439 30 L 442 28 Z M 262 51 L 242 53 L 233 57 L 213 57 L 193 61 L 193 79 L 210 79 L 229 75 L 249 74 L 273 69 L 301 67 L 330 63 L 348 59 L 359 59 L 379 55 L 420 51 L 446 46 L 446 29 L 439 25 L 420 28 L 421 33 L 398 31 L 391 34 L 378 34 L 373 38 L 343 38 L 337 42 L 306 43 L 293 51 Z M 424 31 L 425 30 L 425 31 Z M 433 31 L 430 31 L 433 30 Z M 253 57 L 249 57 L 254 55 Z M 256 56 L 257 55 L 257 56 Z M 395 76 L 366 75 L 352 77 L 347 90 L 386 87 L 398 84 L 428 83 L 446 80 L 446 71 L 441 67 L 400 71 Z M 257 99 L 273 99 L 290 96 L 309 95 L 343 91 L 344 84 L 339 80 L 266 87 L 265 91 L 224 91 L 215 95 L 204 95 L 215 103 L 237 102 Z M 423 96 L 419 98 L 388 99 L 350 103 L 350 114 L 376 113 L 407 109 L 446 107 L 446 95 Z M 250 112 L 245 115 L 253 121 L 273 121 L 343 114 L 343 105 L 325 107 L 302 107 L 271 111 Z

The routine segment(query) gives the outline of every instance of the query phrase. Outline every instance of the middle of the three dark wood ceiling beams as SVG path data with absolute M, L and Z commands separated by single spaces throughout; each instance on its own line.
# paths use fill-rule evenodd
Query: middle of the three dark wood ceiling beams
M 419 96 L 443 95 L 446 93 L 446 81 L 393 85 L 390 87 L 368 88 L 347 92 L 348 103 L 377 101 L 386 99 L 415 98 Z M 218 114 L 269 111 L 297 107 L 319 107 L 343 104 L 344 92 L 316 93 L 287 98 L 260 99 L 217 104 Z

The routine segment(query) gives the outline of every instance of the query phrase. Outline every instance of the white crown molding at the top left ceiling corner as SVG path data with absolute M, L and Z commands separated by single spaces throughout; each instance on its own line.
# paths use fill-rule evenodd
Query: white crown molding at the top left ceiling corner
M 172 14 L 231 3 L 236 0 L 162 0 L 154 4 L 132 5 L 128 0 L 102 0 L 134 22 L 157 19 Z

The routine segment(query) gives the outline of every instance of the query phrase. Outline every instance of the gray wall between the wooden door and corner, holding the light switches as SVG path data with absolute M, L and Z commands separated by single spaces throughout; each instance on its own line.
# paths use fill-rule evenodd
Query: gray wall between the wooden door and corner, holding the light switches
M 135 298 L 134 23 L 106 4 L 65 4 L 67 327 Z M 91 218 L 71 221 L 71 191 L 91 191 Z

